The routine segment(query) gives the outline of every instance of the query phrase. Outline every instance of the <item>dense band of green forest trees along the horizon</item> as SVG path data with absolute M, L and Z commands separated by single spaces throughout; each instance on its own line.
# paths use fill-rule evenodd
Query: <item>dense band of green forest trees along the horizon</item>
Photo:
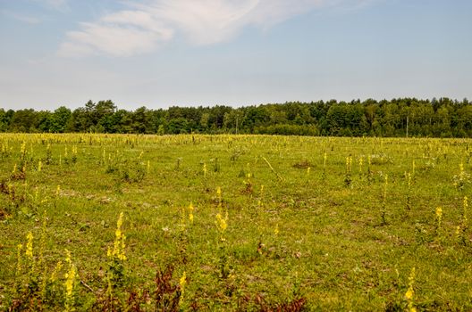
M 74 111 L 64 106 L 55 111 L 0 109 L 0 131 L 468 137 L 472 102 L 401 98 L 126 111 L 110 100 L 89 101 Z

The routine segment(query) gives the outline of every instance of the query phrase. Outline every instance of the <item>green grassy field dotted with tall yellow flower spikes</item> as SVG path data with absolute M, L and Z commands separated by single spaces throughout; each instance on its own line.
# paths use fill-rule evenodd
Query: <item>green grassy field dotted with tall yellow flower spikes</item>
M 0 135 L 0 309 L 471 310 L 471 143 Z

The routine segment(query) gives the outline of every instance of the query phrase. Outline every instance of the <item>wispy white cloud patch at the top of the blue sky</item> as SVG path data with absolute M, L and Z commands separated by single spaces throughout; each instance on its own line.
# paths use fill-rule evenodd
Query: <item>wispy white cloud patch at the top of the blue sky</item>
M 50 2 L 60 0 L 48 0 Z M 61 56 L 149 53 L 177 34 L 193 45 L 231 40 L 248 26 L 274 24 L 322 5 L 366 0 L 147 0 L 128 3 L 127 10 L 107 13 L 80 24 L 59 47 Z

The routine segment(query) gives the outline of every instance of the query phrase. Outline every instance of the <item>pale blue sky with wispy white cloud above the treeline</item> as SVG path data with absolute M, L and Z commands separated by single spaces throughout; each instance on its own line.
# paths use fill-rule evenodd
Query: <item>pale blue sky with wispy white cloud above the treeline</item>
M 0 0 L 0 108 L 472 99 L 470 0 Z

